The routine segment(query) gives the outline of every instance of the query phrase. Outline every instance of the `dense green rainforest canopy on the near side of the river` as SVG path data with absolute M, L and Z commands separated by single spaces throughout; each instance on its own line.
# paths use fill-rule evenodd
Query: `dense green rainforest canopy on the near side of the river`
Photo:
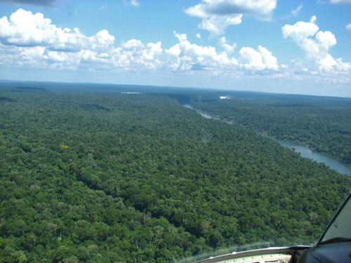
M 44 86 L 0 88 L 0 262 L 172 262 L 310 244 L 350 191 L 350 177 L 204 119 L 174 90 Z

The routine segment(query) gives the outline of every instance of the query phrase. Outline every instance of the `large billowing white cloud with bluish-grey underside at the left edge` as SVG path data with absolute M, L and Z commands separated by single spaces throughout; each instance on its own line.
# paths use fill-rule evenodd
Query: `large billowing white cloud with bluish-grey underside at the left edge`
M 18 9 L 10 16 L 10 20 L 6 16 L 0 19 L 0 41 L 13 46 L 45 46 L 50 50 L 79 51 L 87 47 L 110 48 L 114 36 L 102 30 L 88 37 L 77 28 L 56 27 L 42 13 L 33 14 Z

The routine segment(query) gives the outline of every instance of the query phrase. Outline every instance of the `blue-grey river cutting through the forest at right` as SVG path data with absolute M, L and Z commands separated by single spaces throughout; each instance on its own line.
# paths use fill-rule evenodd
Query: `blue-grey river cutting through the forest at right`
M 187 107 L 189 109 L 193 109 L 190 105 L 183 105 L 184 107 Z M 205 114 L 204 112 L 199 112 L 197 111 L 199 114 L 201 114 L 201 116 L 203 116 L 206 119 L 215 119 L 218 121 L 223 121 L 217 117 Z M 230 121 L 225 121 L 226 123 L 232 124 L 232 122 Z M 294 151 L 297 151 L 300 156 L 308 158 L 308 159 L 312 159 L 313 161 L 317 161 L 317 163 L 324 163 L 326 166 L 329 166 L 331 169 L 333 170 L 337 170 L 339 173 L 351 176 L 351 168 L 348 166 L 343 165 L 343 163 L 340 163 L 334 159 L 331 159 L 328 156 L 325 156 L 323 154 L 319 154 L 316 151 L 312 151 L 310 148 L 305 147 L 303 145 L 300 144 L 295 144 L 293 142 L 288 142 L 288 141 L 284 141 L 284 140 L 279 140 L 276 139 L 274 137 L 269 137 L 266 135 L 262 135 L 264 137 L 268 137 L 271 140 L 274 140 L 276 142 L 279 142 L 279 144 L 281 144 L 284 147 L 287 147 L 289 149 L 293 149 Z

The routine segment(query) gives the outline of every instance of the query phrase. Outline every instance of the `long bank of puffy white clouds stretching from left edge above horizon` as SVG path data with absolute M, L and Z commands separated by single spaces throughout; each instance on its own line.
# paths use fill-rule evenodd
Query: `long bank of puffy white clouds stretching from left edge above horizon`
M 244 74 L 246 70 L 277 70 L 277 58 L 258 46 L 241 48 L 234 57 L 236 43 L 218 39 L 218 47 L 199 46 L 187 40 L 186 34 L 173 32 L 177 39 L 170 48 L 162 43 L 143 43 L 130 39 L 115 45 L 115 38 L 102 29 L 86 36 L 78 28 L 62 29 L 42 13 L 18 9 L 9 18 L 0 19 L 0 64 L 41 69 L 109 69 L 115 72 L 206 72 L 205 74 Z M 201 35 L 197 35 L 201 38 Z M 319 34 L 326 45 L 328 34 Z M 329 41 L 327 41 L 329 39 Z M 240 62 L 239 62 L 239 61 Z M 251 73 L 250 73 L 251 74 Z

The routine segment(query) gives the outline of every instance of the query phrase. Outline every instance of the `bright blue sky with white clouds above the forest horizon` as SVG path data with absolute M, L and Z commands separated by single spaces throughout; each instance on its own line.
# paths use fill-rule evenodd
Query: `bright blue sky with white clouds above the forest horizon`
M 0 0 L 0 79 L 351 96 L 351 0 Z

